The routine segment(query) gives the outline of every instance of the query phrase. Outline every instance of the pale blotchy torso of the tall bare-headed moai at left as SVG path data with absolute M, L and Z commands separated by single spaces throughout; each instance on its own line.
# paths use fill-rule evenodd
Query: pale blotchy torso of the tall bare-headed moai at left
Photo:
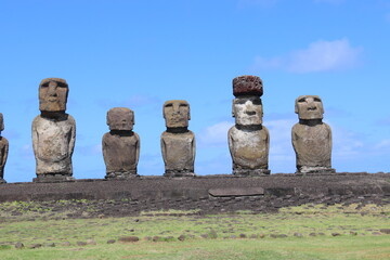
M 37 116 L 32 121 L 32 145 L 39 173 L 70 173 L 75 144 L 75 119 L 64 115 L 62 119 Z

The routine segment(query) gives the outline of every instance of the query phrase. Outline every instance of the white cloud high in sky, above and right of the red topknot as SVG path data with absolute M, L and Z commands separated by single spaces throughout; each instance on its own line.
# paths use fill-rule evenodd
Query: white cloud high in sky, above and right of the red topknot
M 341 70 L 359 65 L 362 48 L 351 47 L 347 38 L 315 41 L 307 49 L 285 56 L 265 58 L 257 56 L 253 69 L 285 69 L 291 73 Z

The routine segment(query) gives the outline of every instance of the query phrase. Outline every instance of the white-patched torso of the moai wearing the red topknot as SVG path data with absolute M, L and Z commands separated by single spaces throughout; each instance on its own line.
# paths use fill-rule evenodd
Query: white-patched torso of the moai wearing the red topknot
M 261 130 L 229 130 L 229 147 L 233 169 L 268 169 L 270 136 L 265 127 Z

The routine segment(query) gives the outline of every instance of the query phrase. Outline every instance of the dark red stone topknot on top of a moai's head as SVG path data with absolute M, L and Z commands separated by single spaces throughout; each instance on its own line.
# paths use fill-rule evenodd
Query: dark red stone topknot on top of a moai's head
M 257 95 L 263 94 L 263 86 L 260 77 L 257 76 L 239 76 L 233 79 L 233 94 L 240 95 Z

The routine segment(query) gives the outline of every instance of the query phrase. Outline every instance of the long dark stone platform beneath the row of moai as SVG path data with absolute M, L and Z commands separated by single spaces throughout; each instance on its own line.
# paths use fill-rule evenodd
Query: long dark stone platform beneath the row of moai
M 83 199 L 102 210 L 136 214 L 180 209 L 203 212 L 272 211 L 308 203 L 390 204 L 390 173 L 334 173 L 264 177 L 231 174 L 196 178 L 140 177 L 131 180 L 75 180 L 62 183 L 0 185 L 0 202 Z M 87 203 L 87 202 L 86 202 Z M 109 213 L 108 213 L 109 214 Z

